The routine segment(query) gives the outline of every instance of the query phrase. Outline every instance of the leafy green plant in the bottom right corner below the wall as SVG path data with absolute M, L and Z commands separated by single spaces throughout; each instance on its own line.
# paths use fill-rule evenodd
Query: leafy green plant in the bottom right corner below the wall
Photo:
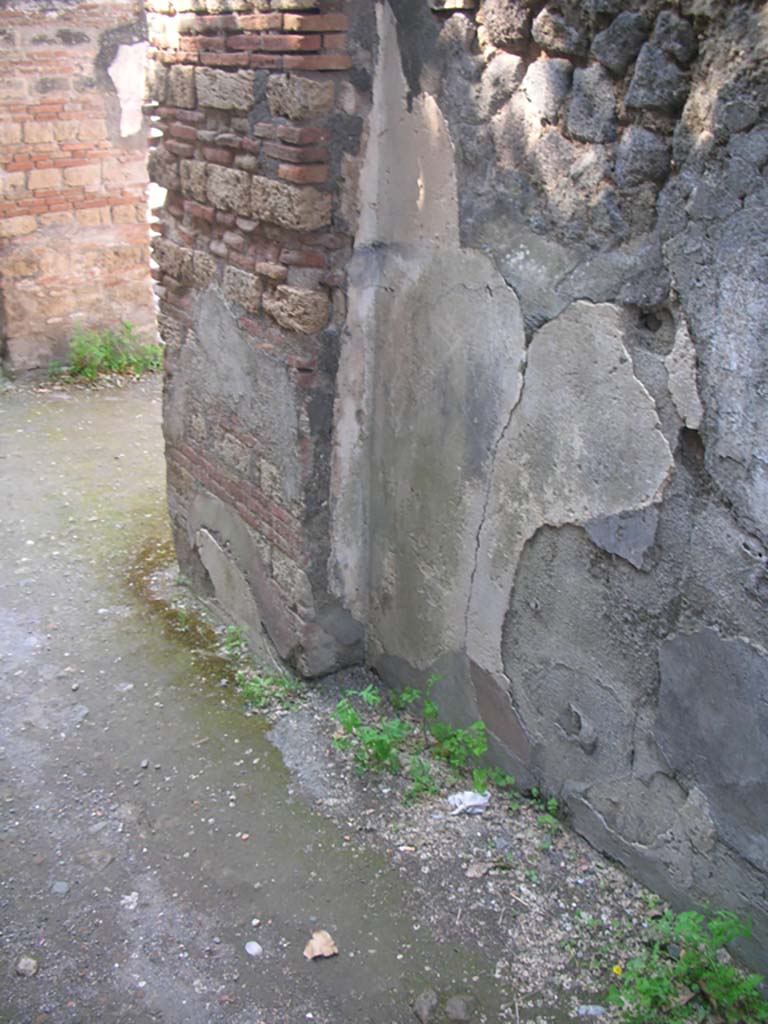
M 750 926 L 725 910 L 709 921 L 695 910 L 667 911 L 653 926 L 653 942 L 623 970 L 621 987 L 608 999 L 622 1009 L 624 1024 L 688 1024 L 768 1021 L 762 978 L 727 963 L 725 946 L 750 935 Z

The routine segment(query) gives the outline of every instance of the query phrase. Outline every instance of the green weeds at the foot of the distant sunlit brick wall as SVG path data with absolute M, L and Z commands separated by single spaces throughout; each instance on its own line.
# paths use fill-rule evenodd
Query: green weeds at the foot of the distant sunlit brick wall
M 88 331 L 78 327 L 70 342 L 69 376 L 93 381 L 101 374 L 132 374 L 137 377 L 160 370 L 163 349 L 142 344 L 131 324 L 121 324 L 117 331 Z M 59 364 L 51 364 L 51 376 L 60 376 Z

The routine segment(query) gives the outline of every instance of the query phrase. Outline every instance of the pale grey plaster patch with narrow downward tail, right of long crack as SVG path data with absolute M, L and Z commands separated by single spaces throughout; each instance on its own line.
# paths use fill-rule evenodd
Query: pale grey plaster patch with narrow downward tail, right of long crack
M 500 638 L 520 554 L 543 525 L 645 508 L 673 467 L 653 399 L 632 371 L 624 315 L 574 302 L 534 337 L 500 445 L 467 621 L 467 652 L 503 673 Z

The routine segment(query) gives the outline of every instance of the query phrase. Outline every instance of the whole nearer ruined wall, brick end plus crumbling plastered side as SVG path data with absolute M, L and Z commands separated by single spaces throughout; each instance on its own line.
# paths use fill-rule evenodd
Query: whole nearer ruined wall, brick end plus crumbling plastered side
M 152 2 L 185 568 L 765 968 L 764 5 Z

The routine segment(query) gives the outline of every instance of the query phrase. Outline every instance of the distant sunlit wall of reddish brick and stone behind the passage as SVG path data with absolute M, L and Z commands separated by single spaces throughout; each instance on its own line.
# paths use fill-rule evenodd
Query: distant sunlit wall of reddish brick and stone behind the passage
M 154 338 L 140 4 L 0 9 L 0 348 L 62 359 L 78 323 Z

